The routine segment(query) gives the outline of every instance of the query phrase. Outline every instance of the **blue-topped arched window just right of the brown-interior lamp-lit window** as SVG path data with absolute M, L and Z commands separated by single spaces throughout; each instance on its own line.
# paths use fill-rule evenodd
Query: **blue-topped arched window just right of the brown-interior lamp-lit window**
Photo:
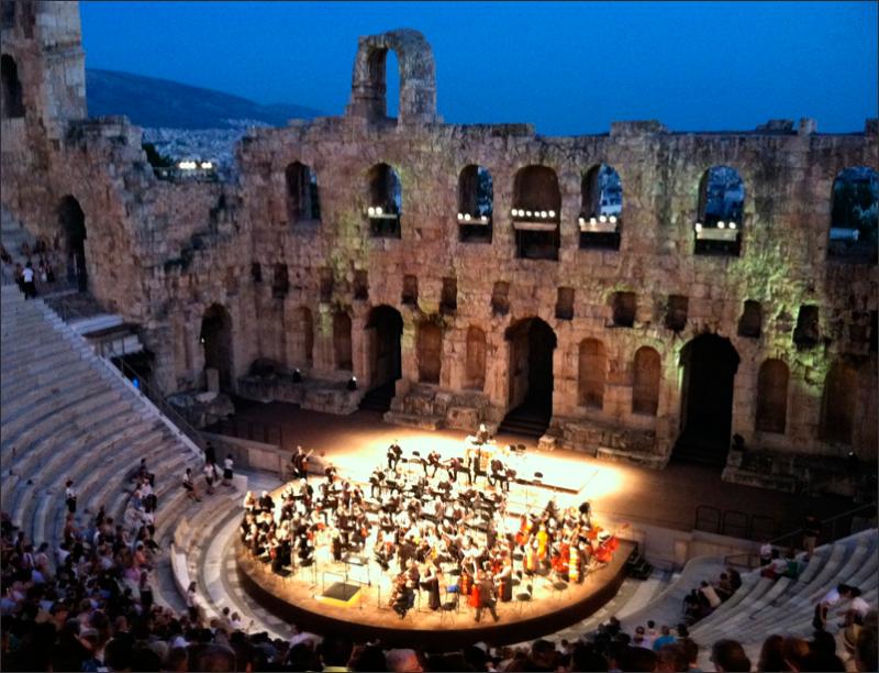
M 580 247 L 620 250 L 620 225 L 623 212 L 623 185 L 611 166 L 601 164 L 590 169 L 580 186 L 582 203 L 577 222 Z

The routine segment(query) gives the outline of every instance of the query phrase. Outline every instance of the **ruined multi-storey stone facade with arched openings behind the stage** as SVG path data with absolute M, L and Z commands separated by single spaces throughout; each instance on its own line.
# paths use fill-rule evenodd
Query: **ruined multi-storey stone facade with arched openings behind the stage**
M 528 124 L 445 124 L 430 45 L 402 30 L 360 40 L 345 115 L 254 130 L 238 145 L 234 183 L 164 181 L 146 163 L 140 129 L 85 119 L 76 3 L 15 5 L 3 51 L 19 63 L 25 115 L 3 120 L 3 205 L 33 232 L 63 239 L 57 203 L 77 199 L 90 289 L 142 326 L 168 394 L 202 387 L 204 367 L 215 365 L 201 339 L 205 311 L 219 306 L 232 387 L 254 361 L 269 360 L 308 382 L 307 393 L 285 384 L 285 396 L 348 412 L 387 364 L 374 311 L 387 306 L 402 318 L 391 415 L 432 427 L 498 423 L 528 385 L 527 349 L 514 334 L 538 318 L 557 344 L 547 441 L 663 465 L 692 374 L 685 346 L 709 333 L 737 356 L 731 432 L 747 446 L 876 461 L 879 275 L 875 264 L 827 255 L 834 180 L 847 167 L 876 168 L 875 120 L 850 134 L 820 134 L 812 120 L 731 133 L 616 122 L 609 134 L 572 137 L 539 136 Z M 400 62 L 399 120 L 385 113 L 389 48 Z M 293 162 L 316 176 L 318 221 L 291 216 Z M 399 177 L 399 238 L 370 235 L 378 164 Z M 619 250 L 580 246 L 583 176 L 599 164 L 622 181 Z M 490 243 L 459 236 L 458 181 L 469 165 L 493 181 Z M 557 222 L 557 260 L 516 253 L 523 225 L 511 212 L 532 198 L 515 188 L 528 166 L 557 179 L 558 212 L 537 225 Z M 744 181 L 737 255 L 694 254 L 700 184 L 712 166 L 734 167 Z M 622 304 L 620 293 L 630 293 Z M 622 327 L 614 317 L 626 301 L 634 315 Z M 758 332 L 741 329 L 746 301 L 759 305 Z M 794 343 L 803 306 L 817 307 L 809 345 Z M 638 362 L 653 363 L 655 383 L 635 366 L 645 346 L 655 353 Z M 783 431 L 756 429 L 767 360 L 788 372 Z M 852 384 L 834 388 L 853 413 L 845 441 L 822 439 L 828 405 L 839 406 L 824 394 L 834 367 Z

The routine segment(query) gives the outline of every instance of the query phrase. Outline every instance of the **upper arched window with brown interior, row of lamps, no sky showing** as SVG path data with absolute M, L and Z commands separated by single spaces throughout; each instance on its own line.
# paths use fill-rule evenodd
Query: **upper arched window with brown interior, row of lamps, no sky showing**
M 513 229 L 516 256 L 558 260 L 561 192 L 556 172 L 548 166 L 525 166 L 513 184 Z

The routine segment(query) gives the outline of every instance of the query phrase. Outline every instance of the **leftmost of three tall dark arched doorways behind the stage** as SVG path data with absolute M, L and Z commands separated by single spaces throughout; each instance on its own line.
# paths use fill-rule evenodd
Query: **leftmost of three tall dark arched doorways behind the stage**
M 402 376 L 400 339 L 403 317 L 390 306 L 369 311 L 366 321 L 366 343 L 369 357 L 369 391 L 361 408 L 387 411 L 394 394 L 394 382 Z

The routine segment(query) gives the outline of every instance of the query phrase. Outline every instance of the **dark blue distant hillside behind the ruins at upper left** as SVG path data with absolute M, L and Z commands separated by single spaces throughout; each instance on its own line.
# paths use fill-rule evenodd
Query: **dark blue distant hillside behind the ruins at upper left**
M 263 106 L 246 98 L 115 70 L 86 70 L 89 115 L 125 114 L 138 126 L 231 129 L 230 120 L 283 126 L 290 119 L 312 119 L 320 110 L 292 104 Z

